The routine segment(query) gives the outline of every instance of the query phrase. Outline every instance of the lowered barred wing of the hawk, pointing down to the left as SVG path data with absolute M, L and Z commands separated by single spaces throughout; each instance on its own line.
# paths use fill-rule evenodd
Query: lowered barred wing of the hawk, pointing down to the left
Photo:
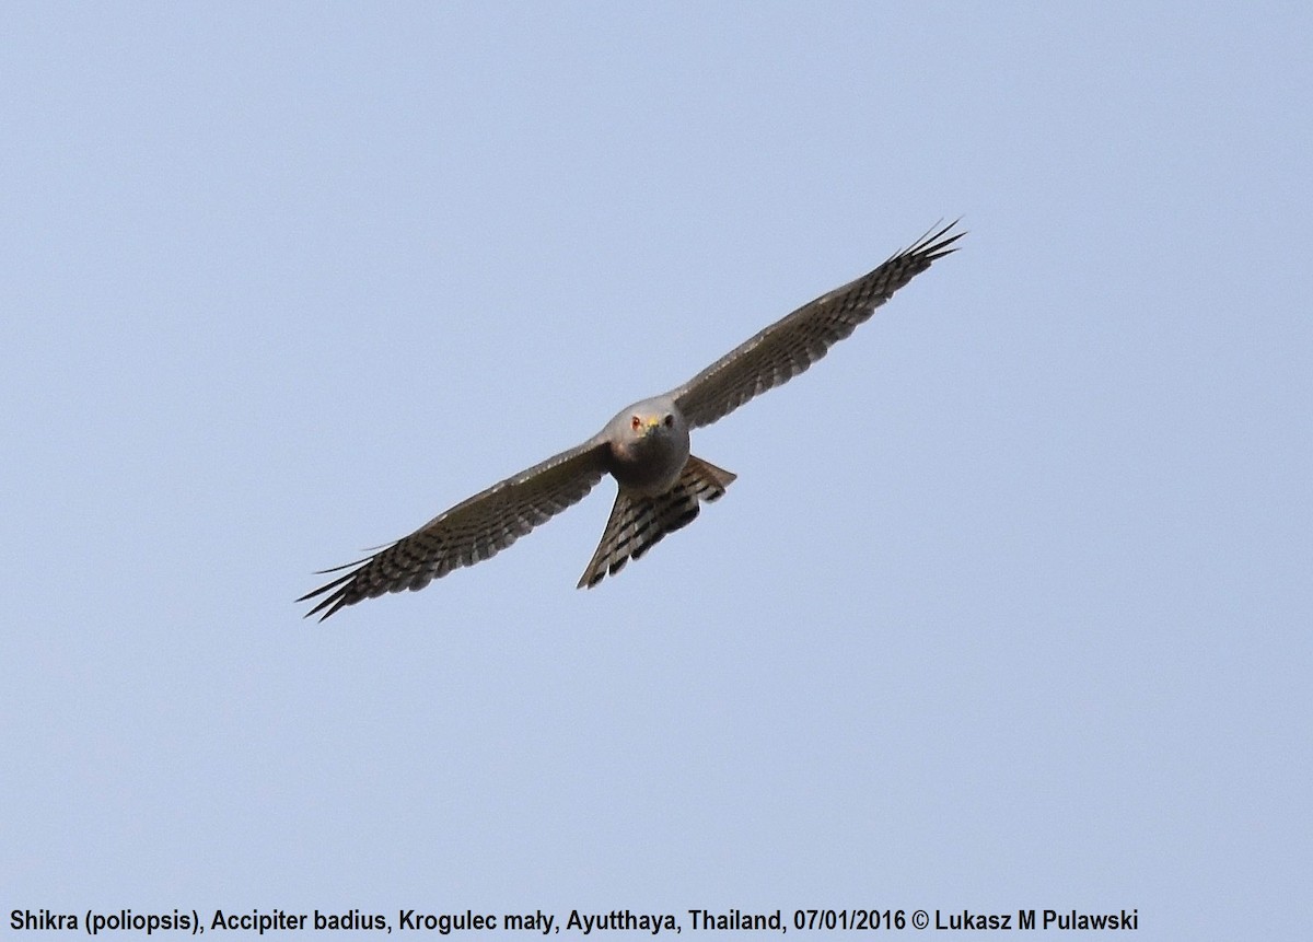
M 323 611 L 319 618 L 323 621 L 361 598 L 423 589 L 452 569 L 491 559 L 538 523 L 583 500 L 607 472 L 607 449 L 600 437 L 592 438 L 507 478 L 373 556 L 324 569 L 324 573 L 351 572 L 297 601 L 324 596 L 306 613 L 309 618 Z

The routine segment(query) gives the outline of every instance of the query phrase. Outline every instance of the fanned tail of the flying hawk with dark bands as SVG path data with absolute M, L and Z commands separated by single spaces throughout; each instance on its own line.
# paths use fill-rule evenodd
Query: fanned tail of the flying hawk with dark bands
M 737 475 L 689 455 L 675 485 L 656 497 L 629 493 L 621 488 L 611 508 L 601 542 L 579 580 L 591 589 L 608 573 L 614 576 L 630 559 L 638 559 L 667 533 L 688 526 L 697 517 L 700 501 L 713 501 L 725 493 Z

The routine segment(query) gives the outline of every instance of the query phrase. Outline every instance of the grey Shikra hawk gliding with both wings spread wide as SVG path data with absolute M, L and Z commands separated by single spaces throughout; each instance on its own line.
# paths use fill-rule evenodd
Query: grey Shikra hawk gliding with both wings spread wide
M 372 556 L 324 569 L 320 575 L 349 572 L 297 600 L 323 596 L 306 617 L 322 611 L 323 621 L 362 598 L 423 589 L 452 569 L 490 559 L 583 500 L 607 474 L 618 485 L 616 504 L 578 588 L 616 575 L 689 523 L 701 501 L 716 500 L 734 480 L 689 454 L 689 429 L 714 422 L 821 359 L 894 291 L 955 252 L 953 243 L 965 235 L 953 231 L 956 224 L 931 230 L 869 274 L 804 304 L 683 386 L 621 409 L 582 445 L 494 484 Z

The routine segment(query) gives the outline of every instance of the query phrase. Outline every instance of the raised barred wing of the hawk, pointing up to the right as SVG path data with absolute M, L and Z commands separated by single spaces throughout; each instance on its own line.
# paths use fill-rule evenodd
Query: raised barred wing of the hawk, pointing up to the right
M 777 320 L 670 392 L 689 428 L 710 425 L 802 373 L 869 319 L 899 287 L 956 249 L 956 222 L 922 236 L 874 272 Z

